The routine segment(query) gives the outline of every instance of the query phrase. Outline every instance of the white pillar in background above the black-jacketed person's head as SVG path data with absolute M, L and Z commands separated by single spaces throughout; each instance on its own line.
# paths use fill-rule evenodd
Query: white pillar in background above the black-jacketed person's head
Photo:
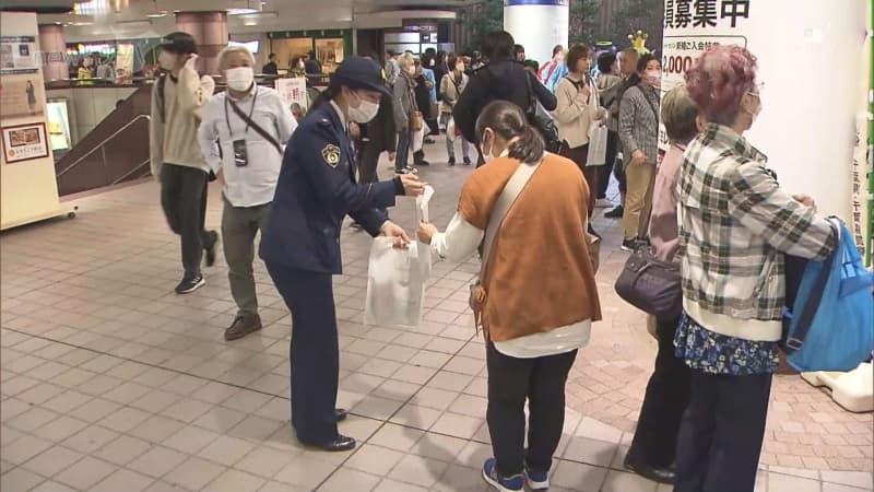
M 504 30 L 541 65 L 555 45 L 567 48 L 568 24 L 568 0 L 504 0 Z

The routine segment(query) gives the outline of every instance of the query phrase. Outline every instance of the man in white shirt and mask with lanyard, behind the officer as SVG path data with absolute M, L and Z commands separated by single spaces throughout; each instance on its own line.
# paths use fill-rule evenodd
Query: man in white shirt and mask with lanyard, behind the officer
M 252 273 L 255 236 L 270 213 L 282 148 L 297 127 L 279 93 L 255 83 L 253 65 L 255 57 L 244 46 L 222 51 L 218 66 L 227 91 L 206 104 L 198 131 L 200 148 L 223 185 L 222 236 L 237 304 L 225 340 L 261 329 Z

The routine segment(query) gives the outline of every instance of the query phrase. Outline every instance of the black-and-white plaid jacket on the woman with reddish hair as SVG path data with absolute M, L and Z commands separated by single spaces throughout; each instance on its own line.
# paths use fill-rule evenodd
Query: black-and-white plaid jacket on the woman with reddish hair
M 686 302 L 735 319 L 781 319 L 784 255 L 824 260 L 830 223 L 780 190 L 767 157 L 729 127 L 689 143 L 677 189 Z

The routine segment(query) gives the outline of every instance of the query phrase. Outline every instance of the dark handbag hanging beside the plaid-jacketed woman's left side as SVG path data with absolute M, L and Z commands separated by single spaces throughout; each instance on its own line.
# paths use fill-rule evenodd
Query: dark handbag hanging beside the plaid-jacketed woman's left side
M 615 289 L 628 304 L 660 319 L 674 319 L 683 312 L 680 266 L 656 258 L 648 247 L 628 257 Z

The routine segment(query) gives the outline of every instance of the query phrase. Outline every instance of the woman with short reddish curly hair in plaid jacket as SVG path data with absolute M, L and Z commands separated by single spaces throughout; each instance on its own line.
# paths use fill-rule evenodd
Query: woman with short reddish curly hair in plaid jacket
M 837 245 L 813 199 L 787 195 L 744 132 L 761 112 L 756 58 L 707 50 L 686 86 L 707 125 L 680 173 L 684 316 L 676 356 L 692 370 L 674 492 L 752 492 L 778 365 L 786 255 L 825 260 Z

